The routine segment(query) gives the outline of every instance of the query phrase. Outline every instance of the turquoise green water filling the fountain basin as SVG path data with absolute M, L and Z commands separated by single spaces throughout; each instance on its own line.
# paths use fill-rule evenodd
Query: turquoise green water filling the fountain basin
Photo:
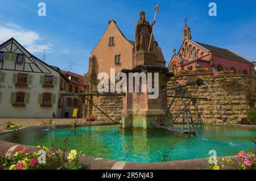
M 0 135 L 0 140 L 25 145 L 63 146 L 71 127 L 27 128 Z M 79 127 L 69 136 L 68 150 L 100 158 L 130 162 L 163 162 L 209 157 L 209 150 L 217 156 L 236 155 L 240 150 L 254 148 L 251 141 L 256 129 L 206 125 L 196 128 L 198 137 L 180 138 L 164 129 L 122 129 L 119 125 Z

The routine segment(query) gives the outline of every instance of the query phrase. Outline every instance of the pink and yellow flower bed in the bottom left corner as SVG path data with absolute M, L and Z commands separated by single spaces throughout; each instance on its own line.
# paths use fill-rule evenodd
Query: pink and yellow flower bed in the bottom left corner
M 37 146 L 38 151 L 28 153 L 27 148 L 18 146 L 9 157 L 2 155 L 0 165 L 7 170 L 77 170 L 81 169 L 81 153 L 71 150 L 68 157 L 65 149 Z

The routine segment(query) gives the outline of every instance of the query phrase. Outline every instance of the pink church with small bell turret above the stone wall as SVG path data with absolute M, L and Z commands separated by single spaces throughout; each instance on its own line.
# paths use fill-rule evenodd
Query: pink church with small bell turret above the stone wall
M 247 74 L 254 71 L 255 62 L 232 52 L 231 50 L 214 47 L 191 40 L 191 29 L 185 23 L 183 44 L 172 56 L 168 69 L 175 74 L 195 73 L 199 71 L 218 74 Z

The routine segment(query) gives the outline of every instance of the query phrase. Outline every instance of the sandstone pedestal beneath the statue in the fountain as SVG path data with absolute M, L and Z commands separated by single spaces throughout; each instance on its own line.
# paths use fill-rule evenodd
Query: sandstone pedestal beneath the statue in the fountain
M 140 81 L 139 92 L 127 91 L 123 100 L 123 112 L 122 123 L 124 128 L 153 128 L 158 119 L 162 119 L 167 110 L 167 92 L 162 92 L 155 99 L 148 99 L 148 73 L 152 73 L 152 86 L 154 87 L 155 73 L 159 75 L 159 87 L 166 87 L 168 78 L 171 74 L 168 73 L 168 69 L 165 67 L 156 66 L 157 60 L 154 52 L 141 50 L 134 56 L 136 62 L 135 67 L 132 70 L 123 70 L 129 77 L 129 73 L 145 73 L 146 83 Z M 135 83 L 133 81 L 133 87 Z M 142 92 L 142 88 L 146 87 L 146 92 Z M 157 87 L 156 87 L 157 88 Z M 129 80 L 127 82 L 127 90 L 129 90 Z M 166 126 L 173 126 L 172 114 L 169 112 L 166 119 L 163 121 Z

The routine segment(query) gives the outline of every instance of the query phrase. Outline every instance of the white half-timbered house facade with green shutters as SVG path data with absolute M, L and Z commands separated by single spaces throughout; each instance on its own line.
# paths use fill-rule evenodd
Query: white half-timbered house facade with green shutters
M 18 41 L 6 41 L 0 45 L 0 117 L 64 116 L 65 103 L 58 102 L 60 93 L 66 90 L 60 89 L 61 78 L 57 70 L 33 56 Z

